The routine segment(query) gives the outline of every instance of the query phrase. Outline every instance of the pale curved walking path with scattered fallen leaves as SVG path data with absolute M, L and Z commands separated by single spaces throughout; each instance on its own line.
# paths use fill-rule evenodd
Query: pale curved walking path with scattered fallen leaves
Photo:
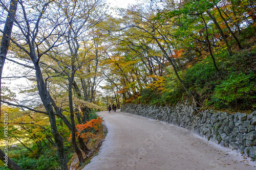
M 120 110 L 99 115 L 109 132 L 83 170 L 256 169 L 250 158 L 174 125 Z

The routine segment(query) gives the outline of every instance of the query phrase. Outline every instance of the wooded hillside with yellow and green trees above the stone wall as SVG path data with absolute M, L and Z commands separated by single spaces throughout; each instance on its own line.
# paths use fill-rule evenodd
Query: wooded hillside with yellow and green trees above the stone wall
M 119 16 L 111 60 L 125 102 L 255 110 L 255 4 L 152 3 Z

